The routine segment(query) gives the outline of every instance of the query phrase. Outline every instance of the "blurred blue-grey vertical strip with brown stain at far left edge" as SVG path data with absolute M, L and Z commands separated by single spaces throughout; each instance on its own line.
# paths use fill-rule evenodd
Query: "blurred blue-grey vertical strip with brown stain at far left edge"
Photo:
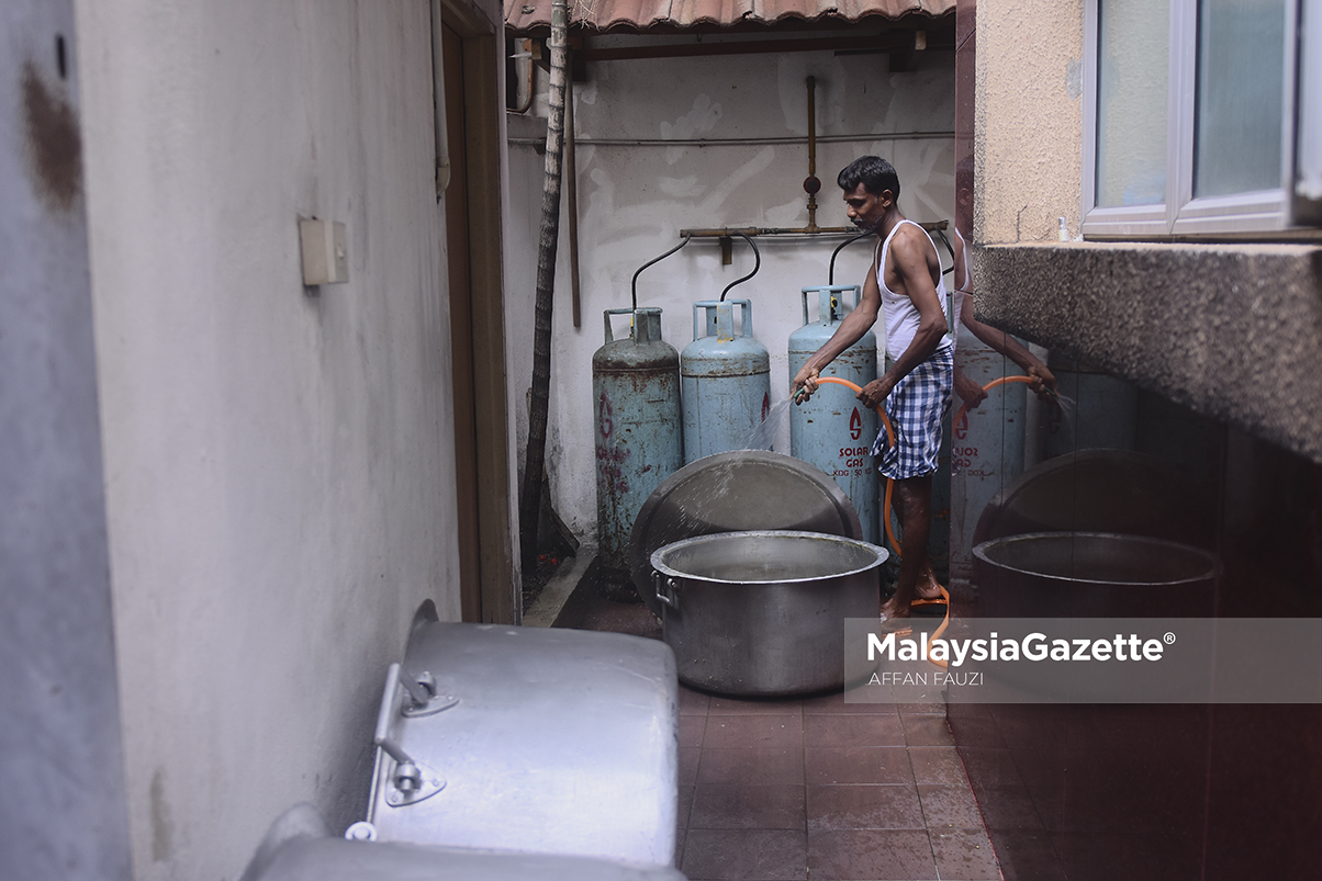
M 122 881 L 79 79 L 71 0 L 0 7 L 0 874 Z

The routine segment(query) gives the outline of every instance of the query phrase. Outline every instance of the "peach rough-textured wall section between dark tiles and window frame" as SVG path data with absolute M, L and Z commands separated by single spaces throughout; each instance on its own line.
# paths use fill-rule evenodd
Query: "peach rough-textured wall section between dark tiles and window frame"
M 1083 0 L 981 0 L 977 45 L 974 240 L 1077 235 Z

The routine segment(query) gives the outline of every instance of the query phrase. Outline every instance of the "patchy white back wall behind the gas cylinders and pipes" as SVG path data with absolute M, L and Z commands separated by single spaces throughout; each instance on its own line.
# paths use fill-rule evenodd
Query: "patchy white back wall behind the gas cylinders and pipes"
M 912 73 L 891 74 L 884 55 L 787 53 L 599 62 L 578 83 L 579 254 L 582 328 L 570 312 L 568 246 L 562 219 L 553 341 L 547 468 L 559 515 L 576 535 L 596 535 L 591 358 L 604 342 L 602 313 L 629 304 L 633 272 L 678 244 L 689 227 L 783 226 L 808 222 L 802 181 L 806 144 L 707 147 L 594 145 L 619 139 L 806 137 L 805 78 L 817 78 L 817 133 L 857 135 L 817 145 L 820 226 L 847 226 L 836 174 L 858 156 L 892 161 L 900 209 L 916 221 L 951 218 L 954 206 L 954 54 L 919 53 Z M 545 77 L 539 77 L 545 90 Z M 545 102 L 534 114 L 545 114 Z M 531 115 L 530 115 L 531 116 Z M 512 211 L 506 223 L 506 326 L 514 354 L 510 388 L 531 380 L 533 291 L 543 157 L 521 139 L 545 139 L 545 120 L 509 118 Z M 914 137 L 915 132 L 944 132 Z M 563 214 L 563 211 L 562 211 Z M 826 284 L 841 238 L 760 239 L 763 265 L 730 297 L 754 301 L 758 338 L 772 355 L 772 402 L 787 396 L 787 342 L 802 324 L 801 288 Z M 837 284 L 862 283 L 870 250 L 858 242 L 836 264 Z M 639 279 L 639 304 L 662 308 L 664 334 L 682 350 L 693 341 L 693 302 L 752 268 L 735 240 L 734 264 L 720 265 L 715 240 L 694 242 Z M 812 309 L 816 314 L 816 306 Z M 624 320 L 616 320 L 624 328 Z M 776 449 L 788 452 L 788 421 Z M 527 408 L 518 408 L 518 437 Z

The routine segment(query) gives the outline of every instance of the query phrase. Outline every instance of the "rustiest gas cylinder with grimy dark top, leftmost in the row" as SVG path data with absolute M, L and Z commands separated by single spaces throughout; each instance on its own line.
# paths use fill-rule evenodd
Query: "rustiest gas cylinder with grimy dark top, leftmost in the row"
M 632 314 L 615 339 L 611 316 Z M 592 354 L 596 411 L 598 560 L 607 582 L 629 580 L 629 534 L 639 509 L 683 465 L 680 353 L 661 339 L 661 309 L 607 309 L 605 345 Z

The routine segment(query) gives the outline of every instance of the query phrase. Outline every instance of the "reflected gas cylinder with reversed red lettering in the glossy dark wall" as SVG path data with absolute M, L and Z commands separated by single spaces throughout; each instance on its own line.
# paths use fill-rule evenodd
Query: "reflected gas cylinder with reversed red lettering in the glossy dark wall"
M 964 304 L 972 309 L 972 301 Z M 978 386 L 1014 376 L 1022 371 L 974 337 L 958 328 L 954 363 Z M 953 409 L 964 404 L 956 395 Z M 988 392 L 981 407 L 965 413 L 947 432 L 951 439 L 951 581 L 964 586 L 973 575 L 973 530 L 988 502 L 1023 473 L 1027 387 L 1023 383 L 998 386 Z M 933 503 L 932 506 L 937 506 Z

